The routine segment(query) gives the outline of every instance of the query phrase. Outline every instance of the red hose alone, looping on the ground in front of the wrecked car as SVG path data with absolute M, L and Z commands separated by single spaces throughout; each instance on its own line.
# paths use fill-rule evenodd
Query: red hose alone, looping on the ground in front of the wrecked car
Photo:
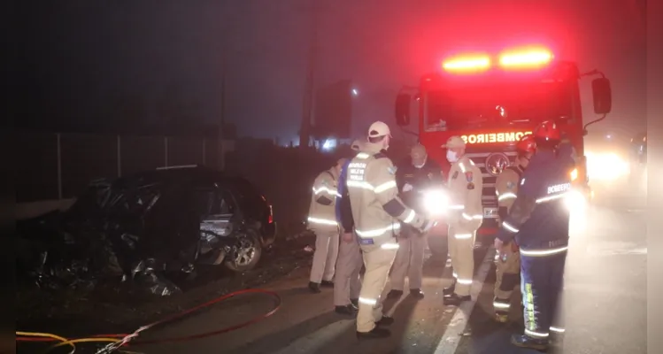
M 150 323 L 149 325 L 142 327 L 142 329 L 140 331 L 142 332 L 142 331 L 148 330 L 152 327 L 157 327 L 159 325 L 163 325 L 163 324 L 165 324 L 167 322 L 170 322 L 170 321 L 173 321 L 175 319 L 181 319 L 181 318 L 189 315 L 192 312 L 197 312 L 197 311 L 203 309 L 204 307 L 210 306 L 212 304 L 220 303 L 221 301 L 225 301 L 225 300 L 227 300 L 231 297 L 240 296 L 240 295 L 244 295 L 244 294 L 251 294 L 251 293 L 253 293 L 253 294 L 256 294 L 256 293 L 266 294 L 266 295 L 269 295 L 269 296 L 273 296 L 274 299 L 276 300 L 276 304 L 274 305 L 274 309 L 270 312 L 266 312 L 265 314 L 257 316 L 255 318 L 250 319 L 248 321 L 245 321 L 243 323 L 237 324 L 235 326 L 225 327 L 225 328 L 221 328 L 219 330 L 205 332 L 205 333 L 201 333 L 201 334 L 197 334 L 197 335 L 185 335 L 185 336 L 181 336 L 181 337 L 163 338 L 163 339 L 156 339 L 156 340 L 150 340 L 150 341 L 132 341 L 131 345 L 154 344 L 154 343 L 160 343 L 160 342 L 184 342 L 184 341 L 192 341 L 192 340 L 195 340 L 195 339 L 209 337 L 209 336 L 212 336 L 212 335 L 221 335 L 221 334 L 224 334 L 224 333 L 235 331 L 235 330 L 243 328 L 243 327 L 250 326 L 254 323 L 259 322 L 262 319 L 266 319 L 266 318 L 272 316 L 275 312 L 277 312 L 281 308 L 281 297 L 278 294 L 276 294 L 274 291 L 264 290 L 264 289 L 243 289 L 243 290 L 234 291 L 234 292 L 229 293 L 229 294 L 224 295 L 224 296 L 217 297 L 217 298 L 215 298 L 211 301 L 208 301 L 204 304 L 197 305 L 196 307 L 193 307 L 193 308 L 191 308 L 189 310 L 186 310 L 184 312 L 175 313 L 172 316 L 166 317 L 166 319 L 160 319 L 156 322 Z M 138 331 L 136 331 L 136 332 L 138 332 Z M 95 337 L 96 338 L 99 338 L 99 337 L 125 338 L 128 335 L 130 335 L 130 334 L 92 335 L 90 337 L 92 337 L 92 338 L 95 338 Z M 51 339 L 51 338 L 35 338 L 35 337 L 27 337 L 27 336 L 17 336 L 16 341 L 17 342 L 57 342 L 57 340 Z M 127 346 L 127 344 L 125 344 L 125 345 Z

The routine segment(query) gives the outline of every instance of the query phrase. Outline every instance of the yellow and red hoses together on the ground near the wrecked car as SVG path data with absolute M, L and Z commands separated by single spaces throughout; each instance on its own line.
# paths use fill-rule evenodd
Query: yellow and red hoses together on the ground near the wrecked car
M 274 297 L 275 304 L 274 308 L 266 312 L 264 314 L 261 314 L 259 316 L 256 316 L 253 319 L 249 319 L 247 321 L 244 321 L 243 323 L 230 326 L 230 327 L 225 327 L 209 332 L 204 332 L 196 335 L 185 335 L 185 336 L 180 336 L 180 337 L 172 337 L 172 338 L 162 338 L 162 339 L 155 339 L 155 340 L 149 340 L 149 341 L 135 341 L 135 338 L 138 337 L 141 333 L 144 331 L 157 327 L 160 325 L 163 325 L 167 322 L 173 321 L 175 319 L 181 319 L 192 312 L 197 312 L 204 307 L 211 306 L 212 304 L 217 304 L 222 301 L 225 301 L 231 297 L 235 296 L 241 296 L 245 294 L 266 294 L 269 296 Z M 131 334 L 114 334 L 114 335 L 92 335 L 90 337 L 85 337 L 85 338 L 76 338 L 76 339 L 67 339 L 63 336 L 59 335 L 52 335 L 50 333 L 35 333 L 35 332 L 16 332 L 16 341 L 17 342 L 58 342 L 53 345 L 51 345 L 45 352 L 48 353 L 51 350 L 55 350 L 56 348 L 63 347 L 63 346 L 69 346 L 71 347 L 71 351 L 69 353 L 73 353 L 76 350 L 76 343 L 81 343 L 81 342 L 109 342 L 104 348 L 101 348 L 100 350 L 96 351 L 96 354 L 108 354 L 112 353 L 116 350 L 119 350 L 121 347 L 128 347 L 129 342 L 131 342 L 131 346 L 138 346 L 138 345 L 143 345 L 143 344 L 154 344 L 154 343 L 162 343 L 162 342 L 186 342 L 186 341 L 192 341 L 200 338 L 205 338 L 205 337 L 210 337 L 213 335 L 221 335 L 225 334 L 228 332 L 235 331 L 237 329 L 243 328 L 250 326 L 254 323 L 257 323 L 263 319 L 266 319 L 272 315 L 274 315 L 275 312 L 277 312 L 281 308 L 281 297 L 278 296 L 274 291 L 269 291 L 269 290 L 264 290 L 264 289 L 243 289 L 239 291 L 235 291 L 232 293 L 229 293 L 224 296 L 217 297 L 211 301 L 208 301 L 204 304 L 199 304 L 196 307 L 190 308 L 189 310 L 186 310 L 184 312 L 179 312 L 175 313 L 171 316 L 166 317 L 165 319 L 160 319 L 156 322 L 152 322 L 149 325 L 140 327 L 134 331 L 134 333 Z M 122 350 L 125 353 L 131 353 L 130 351 L 127 350 Z

